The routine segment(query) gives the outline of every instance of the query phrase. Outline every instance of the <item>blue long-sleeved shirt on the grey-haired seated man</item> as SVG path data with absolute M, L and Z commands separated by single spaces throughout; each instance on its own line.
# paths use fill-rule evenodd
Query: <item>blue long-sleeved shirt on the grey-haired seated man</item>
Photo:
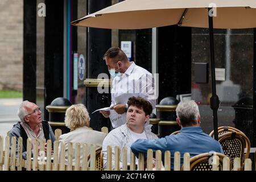
M 188 152 L 190 157 L 209 151 L 220 152 L 224 154 L 220 142 L 214 140 L 208 134 L 205 134 L 201 127 L 183 127 L 179 134 L 169 135 L 164 138 L 147 140 L 138 139 L 131 145 L 131 150 L 136 156 L 138 153 L 147 154 L 147 150 L 152 149 L 162 151 L 162 161 L 164 163 L 164 152 L 171 152 L 171 169 L 174 168 L 174 153 L 180 152 L 180 165 L 183 164 L 183 155 Z

